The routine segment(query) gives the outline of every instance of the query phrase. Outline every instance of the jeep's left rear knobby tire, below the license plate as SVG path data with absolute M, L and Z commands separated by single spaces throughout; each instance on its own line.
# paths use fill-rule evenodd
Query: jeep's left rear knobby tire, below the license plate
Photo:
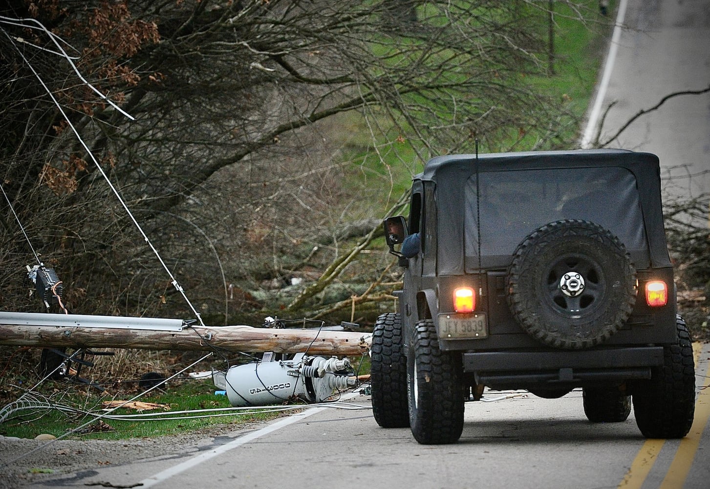
M 451 444 L 464 429 L 461 359 L 439 350 L 431 319 L 417 323 L 407 362 L 409 422 L 425 445 Z

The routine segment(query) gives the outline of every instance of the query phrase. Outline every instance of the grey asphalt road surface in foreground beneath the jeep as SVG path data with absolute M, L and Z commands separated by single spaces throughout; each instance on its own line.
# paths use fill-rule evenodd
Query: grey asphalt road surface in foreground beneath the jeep
M 633 412 L 593 424 L 581 392 L 540 399 L 487 392 L 466 404 L 459 443 L 424 446 L 409 429 L 382 429 L 371 412 L 310 408 L 262 428 L 206 439 L 185 453 L 52 477 L 30 487 L 86 488 L 662 488 L 710 480 L 710 345 L 695 345 L 695 424 L 682 440 L 645 440 Z M 496 400 L 498 399 L 498 400 Z M 368 407 L 368 396 L 349 399 Z

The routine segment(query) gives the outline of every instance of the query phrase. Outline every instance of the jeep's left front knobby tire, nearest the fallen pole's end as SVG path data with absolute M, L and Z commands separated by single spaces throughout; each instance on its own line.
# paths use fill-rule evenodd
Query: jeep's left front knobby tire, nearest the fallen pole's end
M 407 357 L 399 313 L 381 314 L 372 333 L 372 414 L 383 428 L 407 428 Z

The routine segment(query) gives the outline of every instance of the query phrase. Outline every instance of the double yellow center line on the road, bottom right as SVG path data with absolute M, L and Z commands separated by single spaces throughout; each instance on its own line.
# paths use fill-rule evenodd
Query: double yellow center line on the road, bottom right
M 693 355 L 697 367 L 702 343 L 693 344 Z M 710 418 L 710 375 L 705 373 L 705 385 L 695 402 L 695 417 L 688 436 L 680 441 L 670 468 L 659 489 L 677 489 L 682 487 L 693 463 L 695 452 L 700 444 L 702 432 Z M 655 463 L 665 440 L 648 439 L 641 446 L 618 489 L 640 489 Z

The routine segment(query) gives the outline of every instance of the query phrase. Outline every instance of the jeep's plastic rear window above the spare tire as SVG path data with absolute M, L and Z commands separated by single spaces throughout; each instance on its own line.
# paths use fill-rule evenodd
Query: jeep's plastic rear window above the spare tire
M 484 267 L 506 267 L 525 237 L 561 219 L 595 222 L 613 232 L 630 252 L 646 254 L 636 179 L 626 168 L 495 171 L 481 172 L 479 178 Z M 476 175 L 466 181 L 465 197 L 466 272 L 471 272 L 479 267 Z

